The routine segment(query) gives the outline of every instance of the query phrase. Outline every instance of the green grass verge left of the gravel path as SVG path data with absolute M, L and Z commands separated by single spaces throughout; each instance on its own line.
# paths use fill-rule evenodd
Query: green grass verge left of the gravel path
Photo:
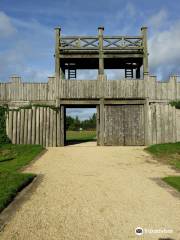
M 0 145 L 0 212 L 33 180 L 34 174 L 19 170 L 42 150 L 40 145 Z

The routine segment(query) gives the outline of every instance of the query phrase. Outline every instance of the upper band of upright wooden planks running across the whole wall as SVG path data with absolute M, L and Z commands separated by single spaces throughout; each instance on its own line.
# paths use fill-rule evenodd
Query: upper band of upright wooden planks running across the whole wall
M 146 98 L 157 100 L 180 99 L 180 82 L 173 76 L 168 82 L 156 77 L 146 79 L 61 80 L 57 85 L 54 77 L 48 83 L 23 83 L 19 77 L 12 82 L 0 83 L 0 101 L 52 101 L 62 99 Z M 103 95 L 103 96 L 102 96 Z

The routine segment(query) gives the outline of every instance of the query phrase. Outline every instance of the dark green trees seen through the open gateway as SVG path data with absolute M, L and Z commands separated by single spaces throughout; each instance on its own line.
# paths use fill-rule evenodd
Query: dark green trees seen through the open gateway
M 66 130 L 95 130 L 96 129 L 96 114 L 86 120 L 80 120 L 78 116 L 75 118 L 66 116 Z

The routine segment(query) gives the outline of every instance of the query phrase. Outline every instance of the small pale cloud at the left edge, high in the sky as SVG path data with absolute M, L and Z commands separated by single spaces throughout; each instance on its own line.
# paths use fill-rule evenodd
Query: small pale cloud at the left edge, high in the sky
M 17 32 L 10 17 L 4 12 L 0 12 L 0 38 L 6 38 L 12 36 Z

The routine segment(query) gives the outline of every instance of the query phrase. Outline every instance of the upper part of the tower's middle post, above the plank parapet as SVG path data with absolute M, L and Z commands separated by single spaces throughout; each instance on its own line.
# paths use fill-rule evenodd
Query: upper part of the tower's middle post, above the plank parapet
M 104 27 L 98 28 L 99 37 L 99 74 L 104 74 L 104 57 L 103 57 L 103 31 Z

